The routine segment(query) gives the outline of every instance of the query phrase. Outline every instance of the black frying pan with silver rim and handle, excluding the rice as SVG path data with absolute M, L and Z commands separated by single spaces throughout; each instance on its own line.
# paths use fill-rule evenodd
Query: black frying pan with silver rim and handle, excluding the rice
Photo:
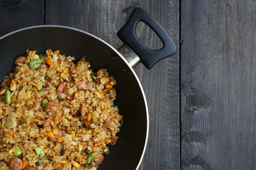
M 163 42 L 160 50 L 150 50 L 136 36 L 136 25 L 145 22 Z M 99 169 L 138 169 L 148 139 L 148 108 L 141 83 L 132 66 L 141 61 L 150 69 L 156 62 L 176 52 L 172 38 L 163 27 L 141 8 L 135 8 L 127 23 L 117 32 L 125 43 L 118 50 L 92 34 L 60 25 L 38 25 L 10 32 L 0 38 L 0 80 L 12 72 L 14 60 L 27 49 L 44 53 L 47 48 L 60 49 L 61 53 L 81 56 L 91 63 L 95 71 L 106 68 L 116 79 L 115 104 L 124 115 L 118 142 L 109 146 L 110 155 Z

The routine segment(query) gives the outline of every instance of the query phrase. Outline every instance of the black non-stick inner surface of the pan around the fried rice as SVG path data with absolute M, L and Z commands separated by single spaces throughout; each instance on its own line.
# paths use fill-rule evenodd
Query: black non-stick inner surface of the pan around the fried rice
M 99 39 L 64 27 L 34 27 L 10 34 L 0 39 L 0 80 L 12 72 L 15 57 L 24 55 L 27 49 L 44 53 L 47 48 L 59 49 L 77 60 L 84 55 L 93 71 L 106 68 L 116 78 L 115 104 L 124 115 L 124 124 L 118 133 L 120 139 L 115 146 L 109 147 L 110 154 L 99 169 L 136 169 L 147 134 L 145 101 L 132 71 L 113 49 Z

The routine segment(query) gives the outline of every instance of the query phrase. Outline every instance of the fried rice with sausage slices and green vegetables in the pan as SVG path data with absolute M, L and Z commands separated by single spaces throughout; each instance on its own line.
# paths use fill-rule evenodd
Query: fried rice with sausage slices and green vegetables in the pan
M 116 81 L 74 59 L 48 49 L 15 60 L 1 83 L 0 169 L 95 169 L 116 143 Z

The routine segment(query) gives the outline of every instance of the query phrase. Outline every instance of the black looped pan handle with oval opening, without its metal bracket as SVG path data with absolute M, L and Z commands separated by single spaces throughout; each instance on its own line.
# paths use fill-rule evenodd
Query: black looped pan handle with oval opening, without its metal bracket
M 136 26 L 138 22 L 145 22 L 163 42 L 163 48 L 159 50 L 150 50 L 144 46 L 136 35 Z M 131 16 L 117 36 L 127 44 L 140 57 L 141 62 L 147 69 L 151 69 L 159 60 L 164 59 L 176 52 L 176 46 L 172 38 L 164 28 L 147 11 L 141 8 L 134 8 Z

